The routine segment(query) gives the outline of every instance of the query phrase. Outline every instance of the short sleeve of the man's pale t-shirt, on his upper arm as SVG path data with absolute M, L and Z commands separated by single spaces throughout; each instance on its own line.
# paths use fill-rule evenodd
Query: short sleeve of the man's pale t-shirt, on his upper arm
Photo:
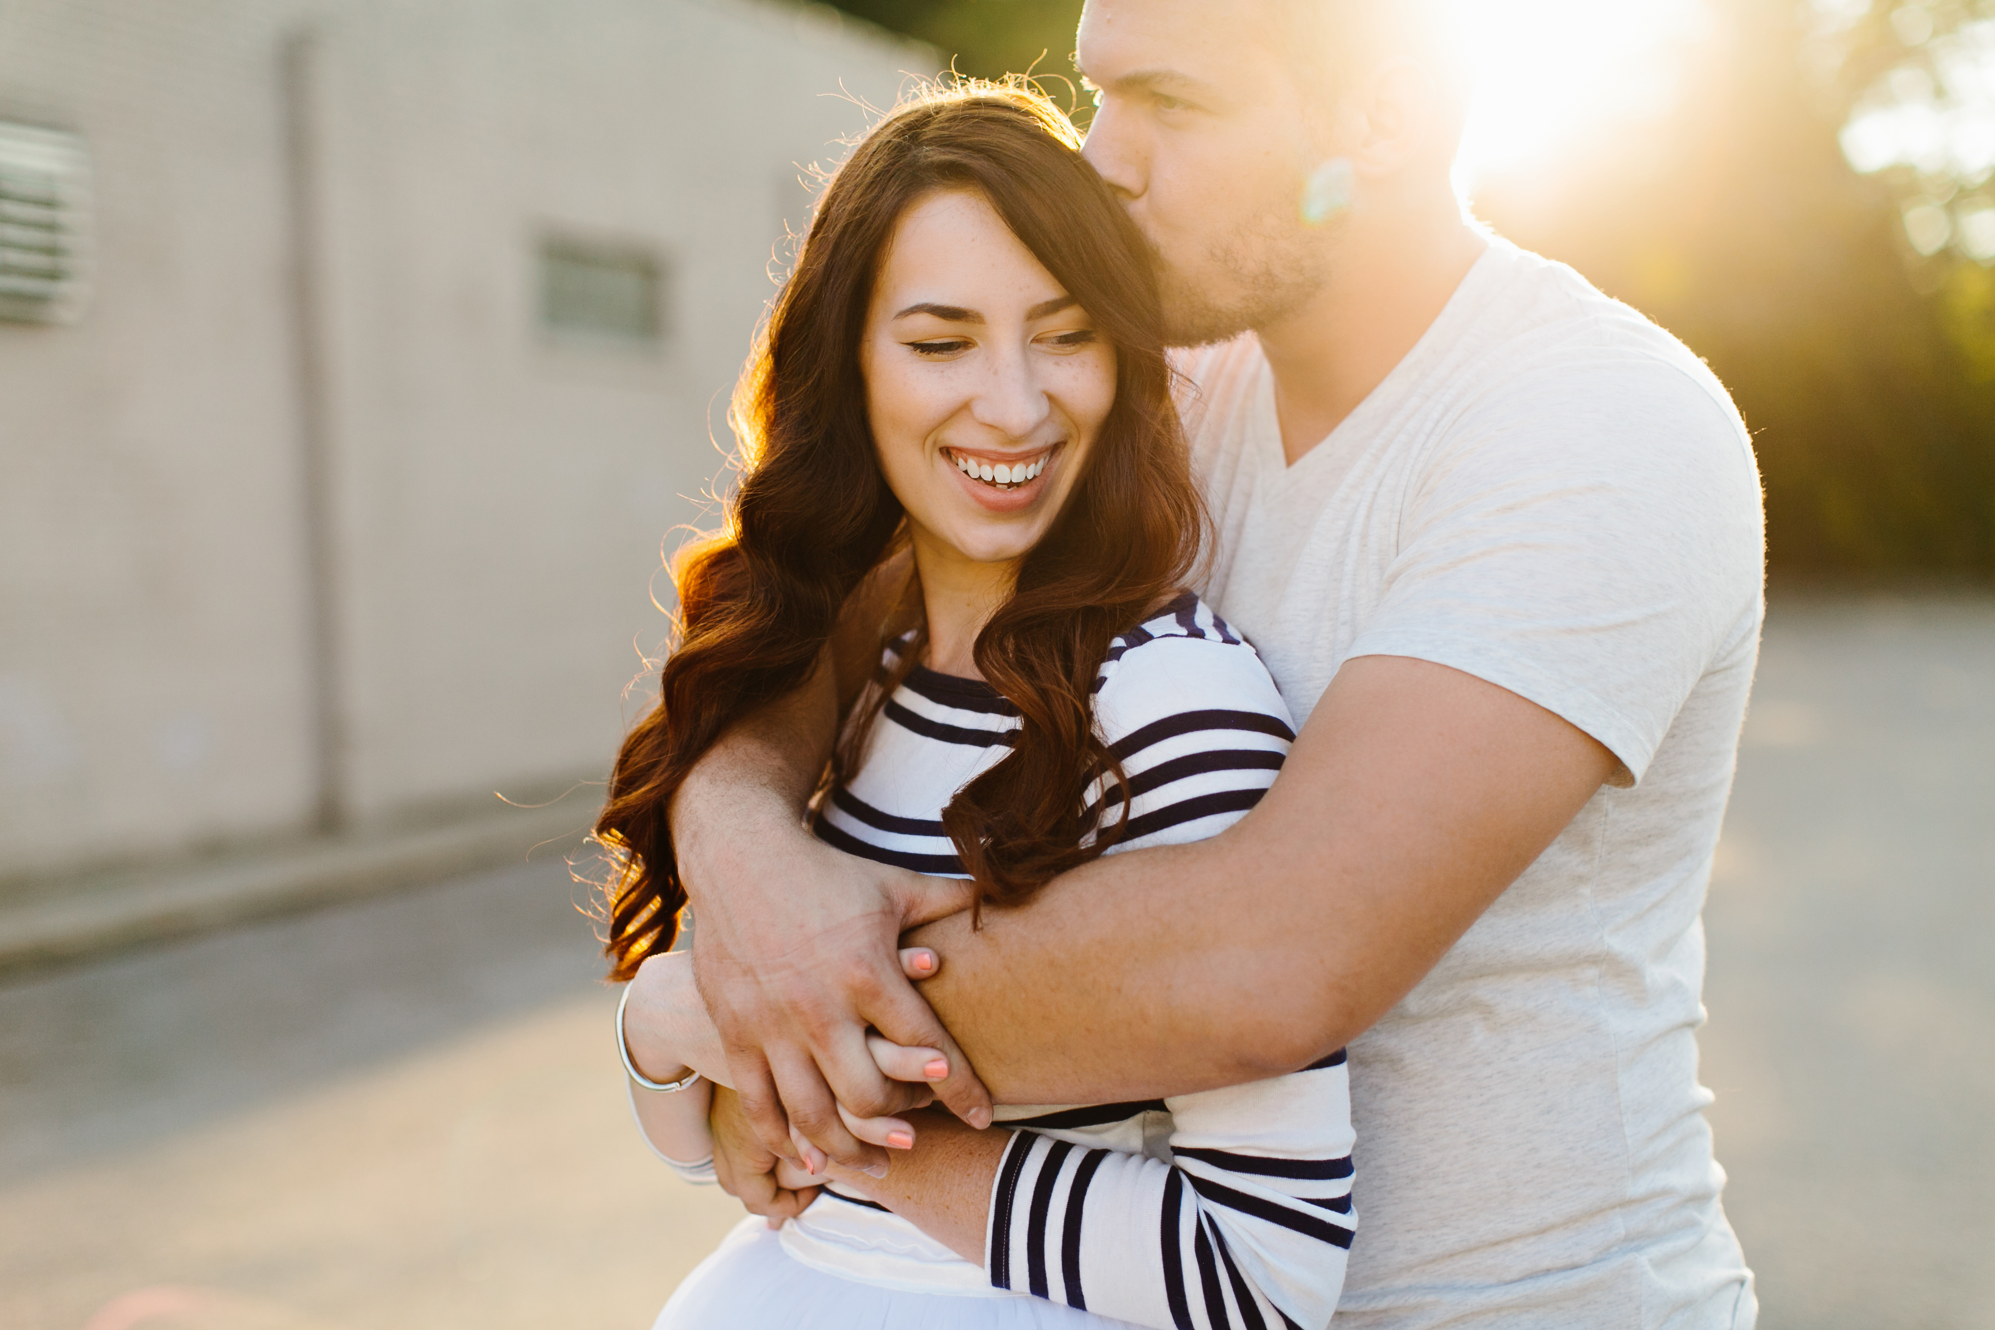
M 1660 359 L 1564 361 L 1462 413 L 1406 497 L 1355 656 L 1536 702 L 1648 770 L 1698 678 L 1758 624 L 1760 477 L 1712 387 Z

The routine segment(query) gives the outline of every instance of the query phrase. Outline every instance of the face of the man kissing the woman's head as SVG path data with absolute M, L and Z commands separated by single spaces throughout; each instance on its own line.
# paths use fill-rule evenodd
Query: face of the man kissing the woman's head
M 1329 154 L 1281 44 L 1263 4 L 1087 0 L 1081 12 L 1099 108 L 1083 152 L 1157 251 L 1173 345 L 1267 327 L 1329 279 L 1337 227 L 1301 215 L 1303 181 Z

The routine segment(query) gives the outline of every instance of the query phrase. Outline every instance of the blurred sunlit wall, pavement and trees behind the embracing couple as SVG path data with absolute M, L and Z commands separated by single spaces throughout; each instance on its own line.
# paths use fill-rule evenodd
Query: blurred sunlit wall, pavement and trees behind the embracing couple
M 1452 4 L 1466 205 L 1766 479 L 1762 1326 L 1995 1330 L 1995 0 Z M 0 2 L 0 1326 L 636 1328 L 732 1222 L 571 861 L 816 167 L 1079 8 Z

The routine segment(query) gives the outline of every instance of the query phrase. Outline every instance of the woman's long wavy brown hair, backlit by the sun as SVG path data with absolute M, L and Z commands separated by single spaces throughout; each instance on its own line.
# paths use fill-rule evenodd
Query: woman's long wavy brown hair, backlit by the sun
M 1121 782 L 1093 728 L 1095 672 L 1115 634 L 1183 586 L 1205 534 L 1155 279 L 1141 233 L 1051 102 L 1021 84 L 932 86 L 888 114 L 826 185 L 734 389 L 740 483 L 726 528 L 674 560 L 676 650 L 658 704 L 616 754 L 597 822 L 610 861 L 610 979 L 634 975 L 678 933 L 686 887 L 670 806 L 686 774 L 728 726 L 810 678 L 840 606 L 898 546 L 902 506 L 874 453 L 858 349 L 896 223 L 946 189 L 990 199 L 1093 315 L 1115 349 L 1117 391 L 1065 506 L 978 636 L 978 670 L 1021 726 L 1011 754 L 956 796 L 944 828 L 980 909 L 1023 899 L 1119 831 L 1099 826 L 1117 800 L 1087 800 L 1097 780 Z M 878 690 L 834 768 L 856 762 L 854 732 L 876 708 Z

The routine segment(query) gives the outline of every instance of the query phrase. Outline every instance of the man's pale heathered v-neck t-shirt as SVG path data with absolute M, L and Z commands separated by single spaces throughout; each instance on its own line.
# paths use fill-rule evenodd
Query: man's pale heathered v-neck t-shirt
M 1295 467 L 1253 335 L 1183 367 L 1207 598 L 1299 722 L 1345 660 L 1416 656 L 1626 768 L 1351 1045 L 1365 1232 L 1339 1324 L 1752 1326 L 1694 1035 L 1762 620 L 1760 481 L 1724 387 L 1504 241 Z

